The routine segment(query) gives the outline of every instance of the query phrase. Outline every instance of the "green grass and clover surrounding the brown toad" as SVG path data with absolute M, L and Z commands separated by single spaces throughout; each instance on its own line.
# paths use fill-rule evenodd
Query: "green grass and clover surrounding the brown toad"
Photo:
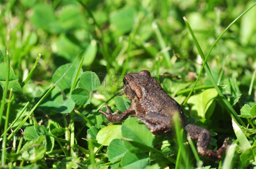
M 2 1 L 0 168 L 254 167 L 255 4 Z M 170 138 L 98 113 L 125 111 L 124 74 L 145 69 L 211 131 L 209 149 L 232 138 L 220 163 L 178 123 Z

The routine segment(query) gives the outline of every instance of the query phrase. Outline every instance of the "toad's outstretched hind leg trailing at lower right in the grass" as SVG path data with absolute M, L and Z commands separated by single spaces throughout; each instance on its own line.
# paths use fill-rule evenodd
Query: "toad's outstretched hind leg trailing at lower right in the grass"
M 210 158 L 212 160 L 217 160 L 218 158 L 221 158 L 223 151 L 227 148 L 228 138 L 225 139 L 222 147 L 220 147 L 219 150 L 214 151 L 207 149 L 211 140 L 211 133 L 208 130 L 194 124 L 188 124 L 185 127 L 185 130 L 187 130 L 192 140 L 198 140 L 196 144 L 197 152 L 204 157 Z

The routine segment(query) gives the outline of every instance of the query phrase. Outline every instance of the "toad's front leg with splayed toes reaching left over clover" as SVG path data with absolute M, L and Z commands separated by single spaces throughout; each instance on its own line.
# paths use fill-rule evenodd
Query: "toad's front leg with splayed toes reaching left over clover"
M 118 110 L 116 110 L 113 114 L 110 112 L 110 109 L 108 107 L 108 104 L 105 103 L 105 106 L 107 108 L 107 111 L 102 111 L 102 110 L 99 110 L 100 113 L 102 113 L 109 122 L 112 122 L 112 123 L 119 123 L 119 122 L 122 122 L 124 120 L 125 117 L 127 116 L 130 116 L 130 115 L 133 115 L 135 114 L 135 110 L 131 104 L 131 106 L 125 110 L 123 113 L 121 114 L 117 114 L 118 113 Z

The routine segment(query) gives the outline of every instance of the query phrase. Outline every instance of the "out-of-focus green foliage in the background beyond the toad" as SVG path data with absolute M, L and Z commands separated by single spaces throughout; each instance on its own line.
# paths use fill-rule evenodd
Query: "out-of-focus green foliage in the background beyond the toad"
M 22 72 L 33 65 L 38 53 L 43 57 L 40 71 L 34 75 L 36 81 L 51 79 L 60 65 L 73 62 L 81 51 L 83 69 L 96 73 L 122 72 L 130 32 L 134 37 L 125 73 L 142 69 L 156 72 L 159 56 L 163 55 L 159 51 L 170 47 L 168 55 L 175 64 L 168 67 L 165 57 L 161 57 L 159 74 L 166 72 L 185 78 L 188 72 L 198 72 L 200 66 L 188 60 L 176 60 L 173 56 L 174 51 L 182 58 L 198 61 L 198 52 L 182 17 L 188 19 L 206 54 L 216 37 L 253 1 L 106 0 L 83 3 L 92 11 L 102 34 L 92 17 L 75 0 L 1 1 L 0 48 L 9 51 L 11 65 L 19 79 L 22 79 Z M 209 65 L 216 77 L 228 55 L 224 76 L 234 74 L 241 83 L 248 83 L 254 69 L 255 17 L 256 9 L 252 8 L 213 48 Z M 162 35 L 165 46 L 160 43 L 157 32 Z M 105 54 L 102 39 L 107 46 Z

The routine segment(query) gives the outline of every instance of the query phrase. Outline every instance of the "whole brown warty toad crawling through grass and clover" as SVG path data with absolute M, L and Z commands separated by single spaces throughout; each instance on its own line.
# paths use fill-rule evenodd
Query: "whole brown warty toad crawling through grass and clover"
M 172 136 L 174 132 L 173 115 L 179 112 L 179 121 L 181 126 L 185 126 L 192 140 L 198 140 L 197 152 L 204 157 L 216 160 L 221 158 L 221 154 L 227 147 L 227 139 L 225 139 L 222 147 L 217 150 L 209 150 L 207 146 L 210 144 L 211 133 L 197 125 L 187 124 L 185 115 L 172 97 L 166 94 L 158 81 L 151 78 L 149 71 L 142 70 L 139 73 L 129 73 L 124 76 L 123 80 L 124 94 L 132 100 L 131 106 L 121 114 L 111 113 L 106 103 L 107 112 L 100 110 L 109 122 L 122 122 L 125 117 L 134 115 L 139 117 L 138 121 L 142 121 L 153 134 L 164 133 Z

